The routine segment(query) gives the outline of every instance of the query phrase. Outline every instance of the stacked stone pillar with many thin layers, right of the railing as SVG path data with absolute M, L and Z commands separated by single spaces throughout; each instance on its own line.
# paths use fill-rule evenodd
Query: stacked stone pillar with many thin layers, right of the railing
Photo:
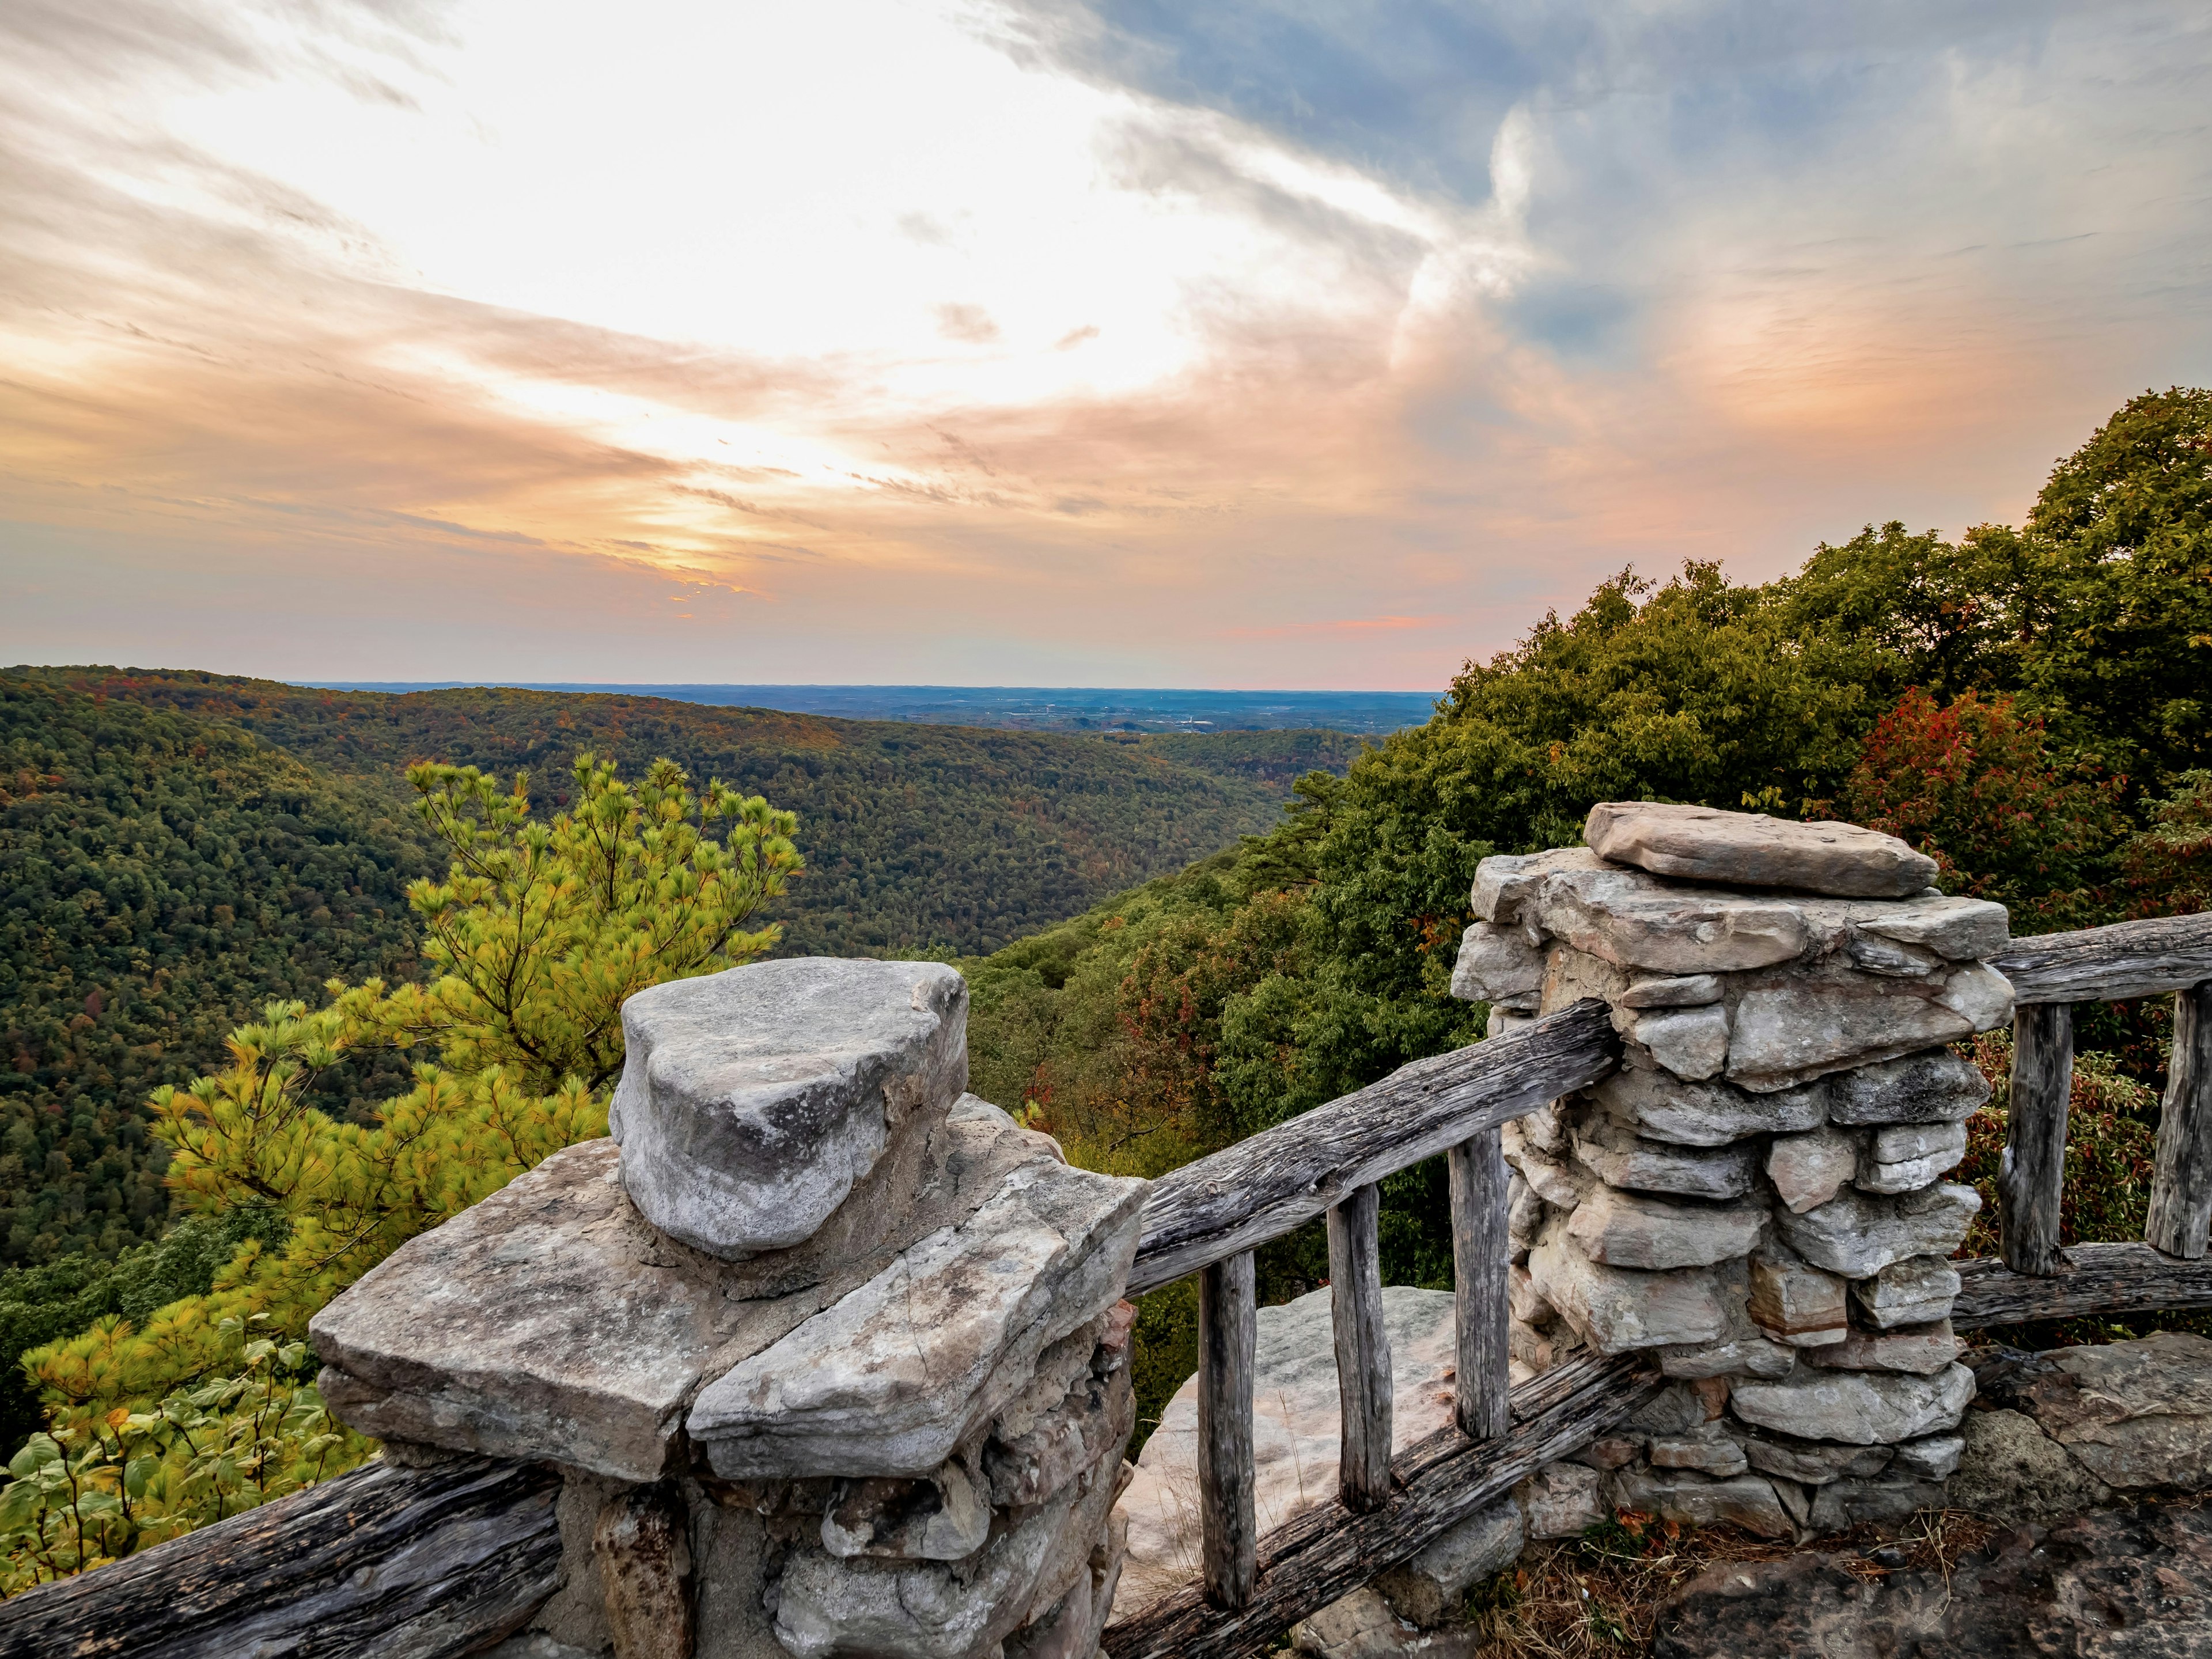
M 1506 1130 L 1513 1356 L 1652 1352 L 1670 1387 L 1584 1462 L 1619 1509 L 1767 1535 L 1942 1502 L 1973 1376 L 1944 1181 L 2011 1020 L 2000 905 L 1854 825 L 1615 803 L 1486 858 L 1453 989 L 1491 1029 L 1599 998 L 1624 1066 Z

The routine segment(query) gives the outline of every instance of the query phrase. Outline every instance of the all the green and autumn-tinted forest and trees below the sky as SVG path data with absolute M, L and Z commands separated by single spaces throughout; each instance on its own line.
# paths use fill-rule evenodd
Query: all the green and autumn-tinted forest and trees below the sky
M 2205 909 L 2208 666 L 2212 392 L 2177 389 L 2117 411 L 2020 526 L 1955 542 L 1869 526 L 1767 584 L 1719 562 L 1624 571 L 1469 661 L 1427 726 L 1365 750 L 1327 734 L 1055 748 L 648 699 L 15 675 L 0 823 L 11 887 L 33 891 L 33 863 L 40 885 L 38 905 L 11 905 L 0 1168 L 18 1194 L 102 1175 L 71 1212 L 97 1212 L 97 1230 L 35 1221 L 18 1261 L 51 1254 L 42 1237 L 93 1254 L 0 1281 L 11 1340 L 44 1343 L 24 1376 L 49 1429 L 0 1500 L 0 1588 L 363 1455 L 314 1400 L 307 1314 L 564 1137 L 599 1133 L 617 1057 L 573 1035 L 641 982 L 770 949 L 956 960 L 975 1091 L 1075 1161 L 1155 1175 L 1475 1040 L 1486 1011 L 1449 995 L 1473 867 L 1575 843 L 1595 801 L 1889 830 L 1938 858 L 1949 891 L 2013 907 L 2015 933 Z M 86 723 L 115 737 L 73 737 Z M 577 752 L 599 763 L 571 770 Z M 440 765 L 403 783 L 409 761 Z M 522 765 L 529 803 L 469 770 Z M 557 898 L 562 872 L 595 858 L 697 885 L 726 925 L 639 956 L 650 905 Z M 522 951 L 500 918 L 533 905 L 546 927 L 529 949 L 553 951 L 557 995 L 500 1006 L 471 964 Z M 325 975 L 347 987 L 319 993 Z M 254 1018 L 257 998 L 283 1002 Z M 239 1020 L 254 1024 L 210 1048 Z M 2084 1020 L 2070 1237 L 2141 1223 L 2163 1020 L 2152 1004 Z M 1978 1060 L 2000 1079 L 2008 1066 L 1995 1040 Z M 1986 1181 L 2002 1115 L 1975 1135 L 1962 1179 Z M 405 1137 L 429 1150 L 400 1152 Z M 126 1270 L 84 1265 L 153 1241 L 164 1192 L 188 1219 Z M 1383 1248 L 1387 1279 L 1447 1281 L 1438 1170 L 1387 1183 Z M 1270 1296 L 1321 1276 L 1316 1239 L 1263 1252 Z M 1139 1318 L 1144 1416 L 1190 1365 L 1188 1290 L 1170 1287 Z M 29 1411 L 27 1391 L 13 1433 Z M 206 1473 L 166 1438 L 175 1413 L 246 1447 L 230 1467 L 259 1484 Z M 40 1531 L 66 1482 L 128 1513 Z

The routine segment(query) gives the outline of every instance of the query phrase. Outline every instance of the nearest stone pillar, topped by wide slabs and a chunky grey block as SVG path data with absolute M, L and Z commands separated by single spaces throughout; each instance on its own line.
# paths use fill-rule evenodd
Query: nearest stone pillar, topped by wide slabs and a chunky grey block
M 964 1093 L 945 967 L 730 969 L 624 1035 L 613 1139 L 312 1327 L 389 1458 L 562 1469 L 562 1588 L 498 1652 L 1091 1659 L 1144 1183 Z

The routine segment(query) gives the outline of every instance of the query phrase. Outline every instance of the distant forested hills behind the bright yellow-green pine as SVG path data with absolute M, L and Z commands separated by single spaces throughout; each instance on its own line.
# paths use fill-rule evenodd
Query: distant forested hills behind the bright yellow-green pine
M 108 1256 L 170 1217 L 139 1104 L 270 998 L 414 971 L 442 869 L 420 759 L 670 757 L 799 812 L 781 953 L 971 956 L 1265 830 L 1336 732 L 1104 739 L 566 692 L 312 692 L 219 675 L 0 672 L 0 1265 Z M 392 1062 L 387 1062 L 392 1064 Z M 341 1082 L 380 1099 L 385 1077 Z

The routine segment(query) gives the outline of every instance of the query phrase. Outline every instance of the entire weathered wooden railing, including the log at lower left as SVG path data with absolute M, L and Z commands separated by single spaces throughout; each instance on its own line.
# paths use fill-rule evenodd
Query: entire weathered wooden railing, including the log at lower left
M 1958 1329 L 2212 1307 L 2212 916 L 2015 940 L 1997 960 L 2020 1013 L 2004 1252 L 1960 1263 Z M 2070 1004 L 2177 995 L 2148 1243 L 2059 1250 Z M 1113 1659 L 1263 1652 L 1294 1621 L 1396 1566 L 1635 1411 L 1659 1378 L 1635 1356 L 1575 1358 L 1509 1389 L 1504 1164 L 1498 1130 L 1604 1077 L 1604 1004 L 1420 1060 L 1369 1088 L 1164 1177 L 1130 1294 L 1201 1274 L 1203 1575 L 1106 1632 Z M 1391 1458 L 1376 1183 L 1444 1152 L 1458 1274 L 1455 1427 Z M 1338 1495 L 1256 1535 L 1252 1250 L 1327 1217 L 1345 1455 Z M 449 1659 L 520 1626 L 560 1566 L 560 1478 L 531 1464 L 372 1464 L 97 1573 L 0 1604 L 0 1659 Z

